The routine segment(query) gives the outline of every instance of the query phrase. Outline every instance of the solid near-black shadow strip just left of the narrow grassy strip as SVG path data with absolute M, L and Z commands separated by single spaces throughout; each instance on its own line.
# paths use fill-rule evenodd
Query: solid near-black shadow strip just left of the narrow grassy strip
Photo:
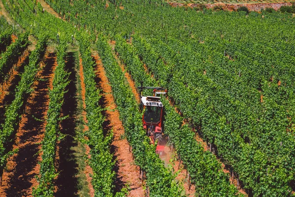
M 77 161 L 75 158 L 75 151 L 72 147 L 77 146 L 77 142 L 72 136 L 76 135 L 75 128 L 75 115 L 77 112 L 77 99 L 76 99 L 76 70 L 75 67 L 75 54 L 70 52 L 67 54 L 66 69 L 70 72 L 70 83 L 67 86 L 67 92 L 64 94 L 64 103 L 62 106 L 63 116 L 69 116 L 67 119 L 60 122 L 62 134 L 66 136 L 59 142 L 59 176 L 56 180 L 58 191 L 55 197 L 78 197 L 78 180 L 77 180 Z

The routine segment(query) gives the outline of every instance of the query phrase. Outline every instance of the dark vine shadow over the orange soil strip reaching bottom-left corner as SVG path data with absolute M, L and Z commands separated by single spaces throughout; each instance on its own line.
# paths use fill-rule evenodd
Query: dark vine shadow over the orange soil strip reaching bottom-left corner
M 42 79 L 49 79 L 52 73 L 52 65 L 54 64 L 53 57 L 55 54 L 49 54 L 48 58 L 44 61 L 45 67 L 41 72 Z M 40 119 L 45 121 L 46 103 L 48 98 L 47 87 L 49 86 L 49 80 L 40 80 L 34 91 L 34 97 L 27 103 L 27 112 L 24 116 L 28 118 L 28 121 L 21 125 L 23 134 L 19 136 L 19 143 L 26 145 L 20 147 L 17 156 L 14 159 L 16 163 L 15 168 L 12 171 L 12 175 L 9 177 L 9 188 L 5 191 L 7 197 L 22 197 L 28 196 L 27 193 L 31 187 L 30 181 L 36 173 L 30 173 L 37 165 L 39 144 L 37 144 L 38 135 L 43 134 L 40 131 L 44 131 L 45 125 L 43 122 L 36 120 Z M 34 118 L 35 117 L 35 118 Z

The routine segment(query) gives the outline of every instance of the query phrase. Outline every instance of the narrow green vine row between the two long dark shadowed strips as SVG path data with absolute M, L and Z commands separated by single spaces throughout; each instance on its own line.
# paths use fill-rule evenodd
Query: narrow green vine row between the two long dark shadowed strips
M 58 46 L 57 62 L 53 79 L 53 89 L 49 91 L 49 108 L 45 136 L 42 141 L 42 161 L 40 163 L 39 185 L 33 189 L 34 197 L 53 197 L 54 179 L 58 175 L 55 170 L 56 147 L 59 132 L 60 111 L 63 104 L 65 88 L 69 84 L 69 73 L 65 71 L 66 42 L 61 40 Z

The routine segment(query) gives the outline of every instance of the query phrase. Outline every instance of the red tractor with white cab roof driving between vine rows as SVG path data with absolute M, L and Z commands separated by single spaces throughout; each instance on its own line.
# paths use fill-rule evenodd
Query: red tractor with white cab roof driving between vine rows
M 165 95 L 165 89 L 160 87 L 138 87 L 140 90 L 140 108 L 145 110 L 143 115 L 144 130 L 150 138 L 152 144 L 157 143 L 156 153 L 160 155 L 164 151 L 163 131 L 164 131 L 164 111 L 163 104 L 160 101 L 161 97 L 157 95 Z M 142 96 L 143 89 L 153 89 L 153 96 Z

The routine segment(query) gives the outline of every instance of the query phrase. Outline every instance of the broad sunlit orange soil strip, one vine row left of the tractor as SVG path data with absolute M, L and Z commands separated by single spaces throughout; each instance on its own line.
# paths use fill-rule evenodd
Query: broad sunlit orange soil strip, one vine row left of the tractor
M 112 95 L 112 88 L 109 85 L 108 78 L 97 53 L 94 54 L 93 58 L 96 62 L 97 82 L 102 90 L 101 104 L 107 108 L 104 114 L 106 117 L 104 129 L 112 129 L 114 133 L 114 140 L 111 146 L 116 159 L 115 171 L 117 178 L 115 191 L 120 191 L 127 184 L 131 189 L 128 197 L 145 197 L 143 184 L 139 178 L 139 168 L 134 163 L 132 153 L 129 152 L 129 144 L 124 137 L 124 128 L 119 120 L 119 112 L 116 109 L 117 106 Z

